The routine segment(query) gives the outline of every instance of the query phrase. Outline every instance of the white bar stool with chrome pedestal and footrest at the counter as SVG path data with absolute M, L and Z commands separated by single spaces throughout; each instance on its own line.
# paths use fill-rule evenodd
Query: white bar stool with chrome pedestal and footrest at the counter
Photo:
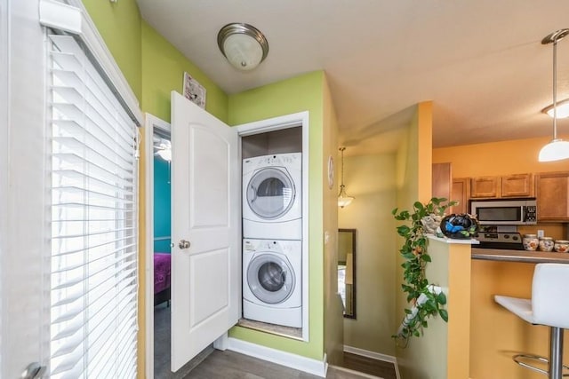
M 569 328 L 569 264 L 535 265 L 532 281 L 532 298 L 520 299 L 509 296 L 494 296 L 494 301 L 509 312 L 531 324 L 549 327 L 549 358 L 531 354 L 517 354 L 514 361 L 520 366 L 531 368 L 549 379 L 561 379 L 563 368 L 563 330 Z M 523 359 L 538 360 L 548 364 L 548 370 L 534 367 Z

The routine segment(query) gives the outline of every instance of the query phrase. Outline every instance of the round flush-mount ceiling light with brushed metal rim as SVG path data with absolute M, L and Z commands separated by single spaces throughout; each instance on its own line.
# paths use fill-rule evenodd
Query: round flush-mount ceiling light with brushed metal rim
M 221 28 L 217 44 L 231 66 L 242 71 L 259 66 L 268 54 L 267 38 L 249 24 L 234 22 Z

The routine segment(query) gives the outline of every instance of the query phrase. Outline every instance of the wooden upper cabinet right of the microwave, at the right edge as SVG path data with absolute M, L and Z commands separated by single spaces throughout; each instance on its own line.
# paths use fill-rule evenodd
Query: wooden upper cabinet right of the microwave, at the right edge
M 569 221 L 569 171 L 536 174 L 535 194 L 538 222 Z

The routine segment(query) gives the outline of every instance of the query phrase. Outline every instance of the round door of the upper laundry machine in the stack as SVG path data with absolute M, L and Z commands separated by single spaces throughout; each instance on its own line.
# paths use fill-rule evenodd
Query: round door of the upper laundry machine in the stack
M 247 185 L 249 208 L 266 220 L 284 216 L 293 207 L 295 196 L 293 179 L 284 169 L 261 169 L 253 174 Z

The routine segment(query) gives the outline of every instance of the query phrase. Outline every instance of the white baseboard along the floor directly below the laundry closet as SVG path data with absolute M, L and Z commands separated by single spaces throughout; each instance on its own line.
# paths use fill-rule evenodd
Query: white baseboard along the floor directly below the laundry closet
M 328 369 L 326 355 L 324 356 L 324 359 L 320 361 L 231 337 L 228 339 L 228 350 L 240 352 L 254 358 L 267 360 L 268 362 L 276 363 L 277 365 L 291 367 L 295 370 L 304 371 L 323 378 L 326 377 L 326 371 Z

